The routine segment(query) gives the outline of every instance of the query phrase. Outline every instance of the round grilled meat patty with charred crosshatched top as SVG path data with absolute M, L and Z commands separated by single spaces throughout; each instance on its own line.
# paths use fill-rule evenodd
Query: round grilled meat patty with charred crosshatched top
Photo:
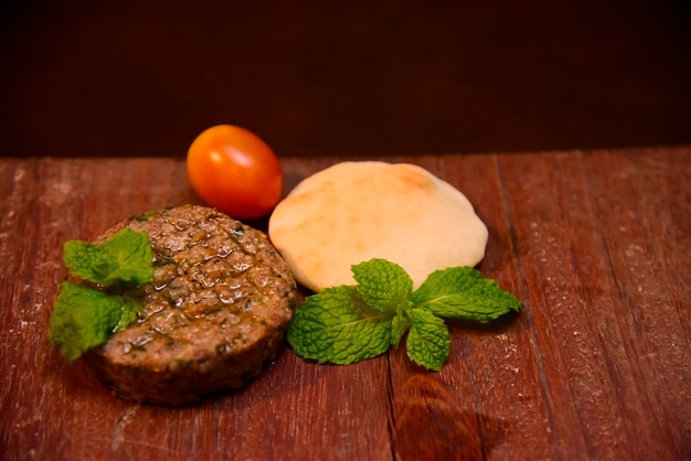
M 151 240 L 155 279 L 125 331 L 86 363 L 124 398 L 187 405 L 245 386 L 273 360 L 293 318 L 296 285 L 262 232 L 203 206 L 119 223 Z

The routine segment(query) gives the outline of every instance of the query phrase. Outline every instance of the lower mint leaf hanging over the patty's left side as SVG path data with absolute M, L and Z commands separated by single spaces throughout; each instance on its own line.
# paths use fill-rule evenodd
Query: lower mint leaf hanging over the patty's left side
M 91 347 L 108 341 L 121 323 L 124 310 L 129 319 L 139 309 L 140 301 L 136 298 L 63 282 L 53 304 L 49 339 L 68 362 L 74 362 Z

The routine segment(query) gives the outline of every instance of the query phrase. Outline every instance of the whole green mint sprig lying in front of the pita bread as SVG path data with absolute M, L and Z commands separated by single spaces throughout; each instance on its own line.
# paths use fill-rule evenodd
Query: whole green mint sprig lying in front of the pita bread
M 385 259 L 352 267 L 357 286 L 308 297 L 288 328 L 295 353 L 319 363 L 347 365 L 381 355 L 407 333 L 408 357 L 439 371 L 450 350 L 444 319 L 489 322 L 521 302 L 469 267 L 437 270 L 413 291 L 405 270 Z

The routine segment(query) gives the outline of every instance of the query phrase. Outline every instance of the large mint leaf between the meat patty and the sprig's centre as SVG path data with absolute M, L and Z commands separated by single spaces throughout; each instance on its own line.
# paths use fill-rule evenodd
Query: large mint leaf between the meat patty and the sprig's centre
M 368 305 L 355 287 L 328 288 L 296 310 L 287 340 L 301 357 L 350 364 L 389 351 L 391 318 Z

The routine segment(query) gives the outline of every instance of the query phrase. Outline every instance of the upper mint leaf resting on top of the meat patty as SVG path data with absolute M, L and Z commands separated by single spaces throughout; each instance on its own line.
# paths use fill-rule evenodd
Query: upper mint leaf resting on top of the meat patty
M 64 262 L 75 276 L 103 287 L 121 285 L 134 288 L 153 280 L 149 237 L 129 227 L 102 245 L 65 242 Z

